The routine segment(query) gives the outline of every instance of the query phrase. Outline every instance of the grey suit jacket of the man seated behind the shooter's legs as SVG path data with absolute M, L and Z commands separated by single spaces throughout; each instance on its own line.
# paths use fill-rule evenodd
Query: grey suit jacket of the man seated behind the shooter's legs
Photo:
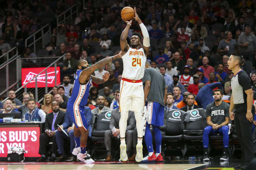
M 110 118 L 110 124 L 109 129 L 113 129 L 115 127 L 116 129 L 119 129 L 119 120 L 121 118 L 121 114 L 119 112 L 119 108 L 116 108 L 111 111 L 111 118 Z M 127 127 L 126 130 L 133 130 L 135 127 L 135 116 L 133 111 L 129 111 L 128 113 L 128 119 L 127 119 Z

